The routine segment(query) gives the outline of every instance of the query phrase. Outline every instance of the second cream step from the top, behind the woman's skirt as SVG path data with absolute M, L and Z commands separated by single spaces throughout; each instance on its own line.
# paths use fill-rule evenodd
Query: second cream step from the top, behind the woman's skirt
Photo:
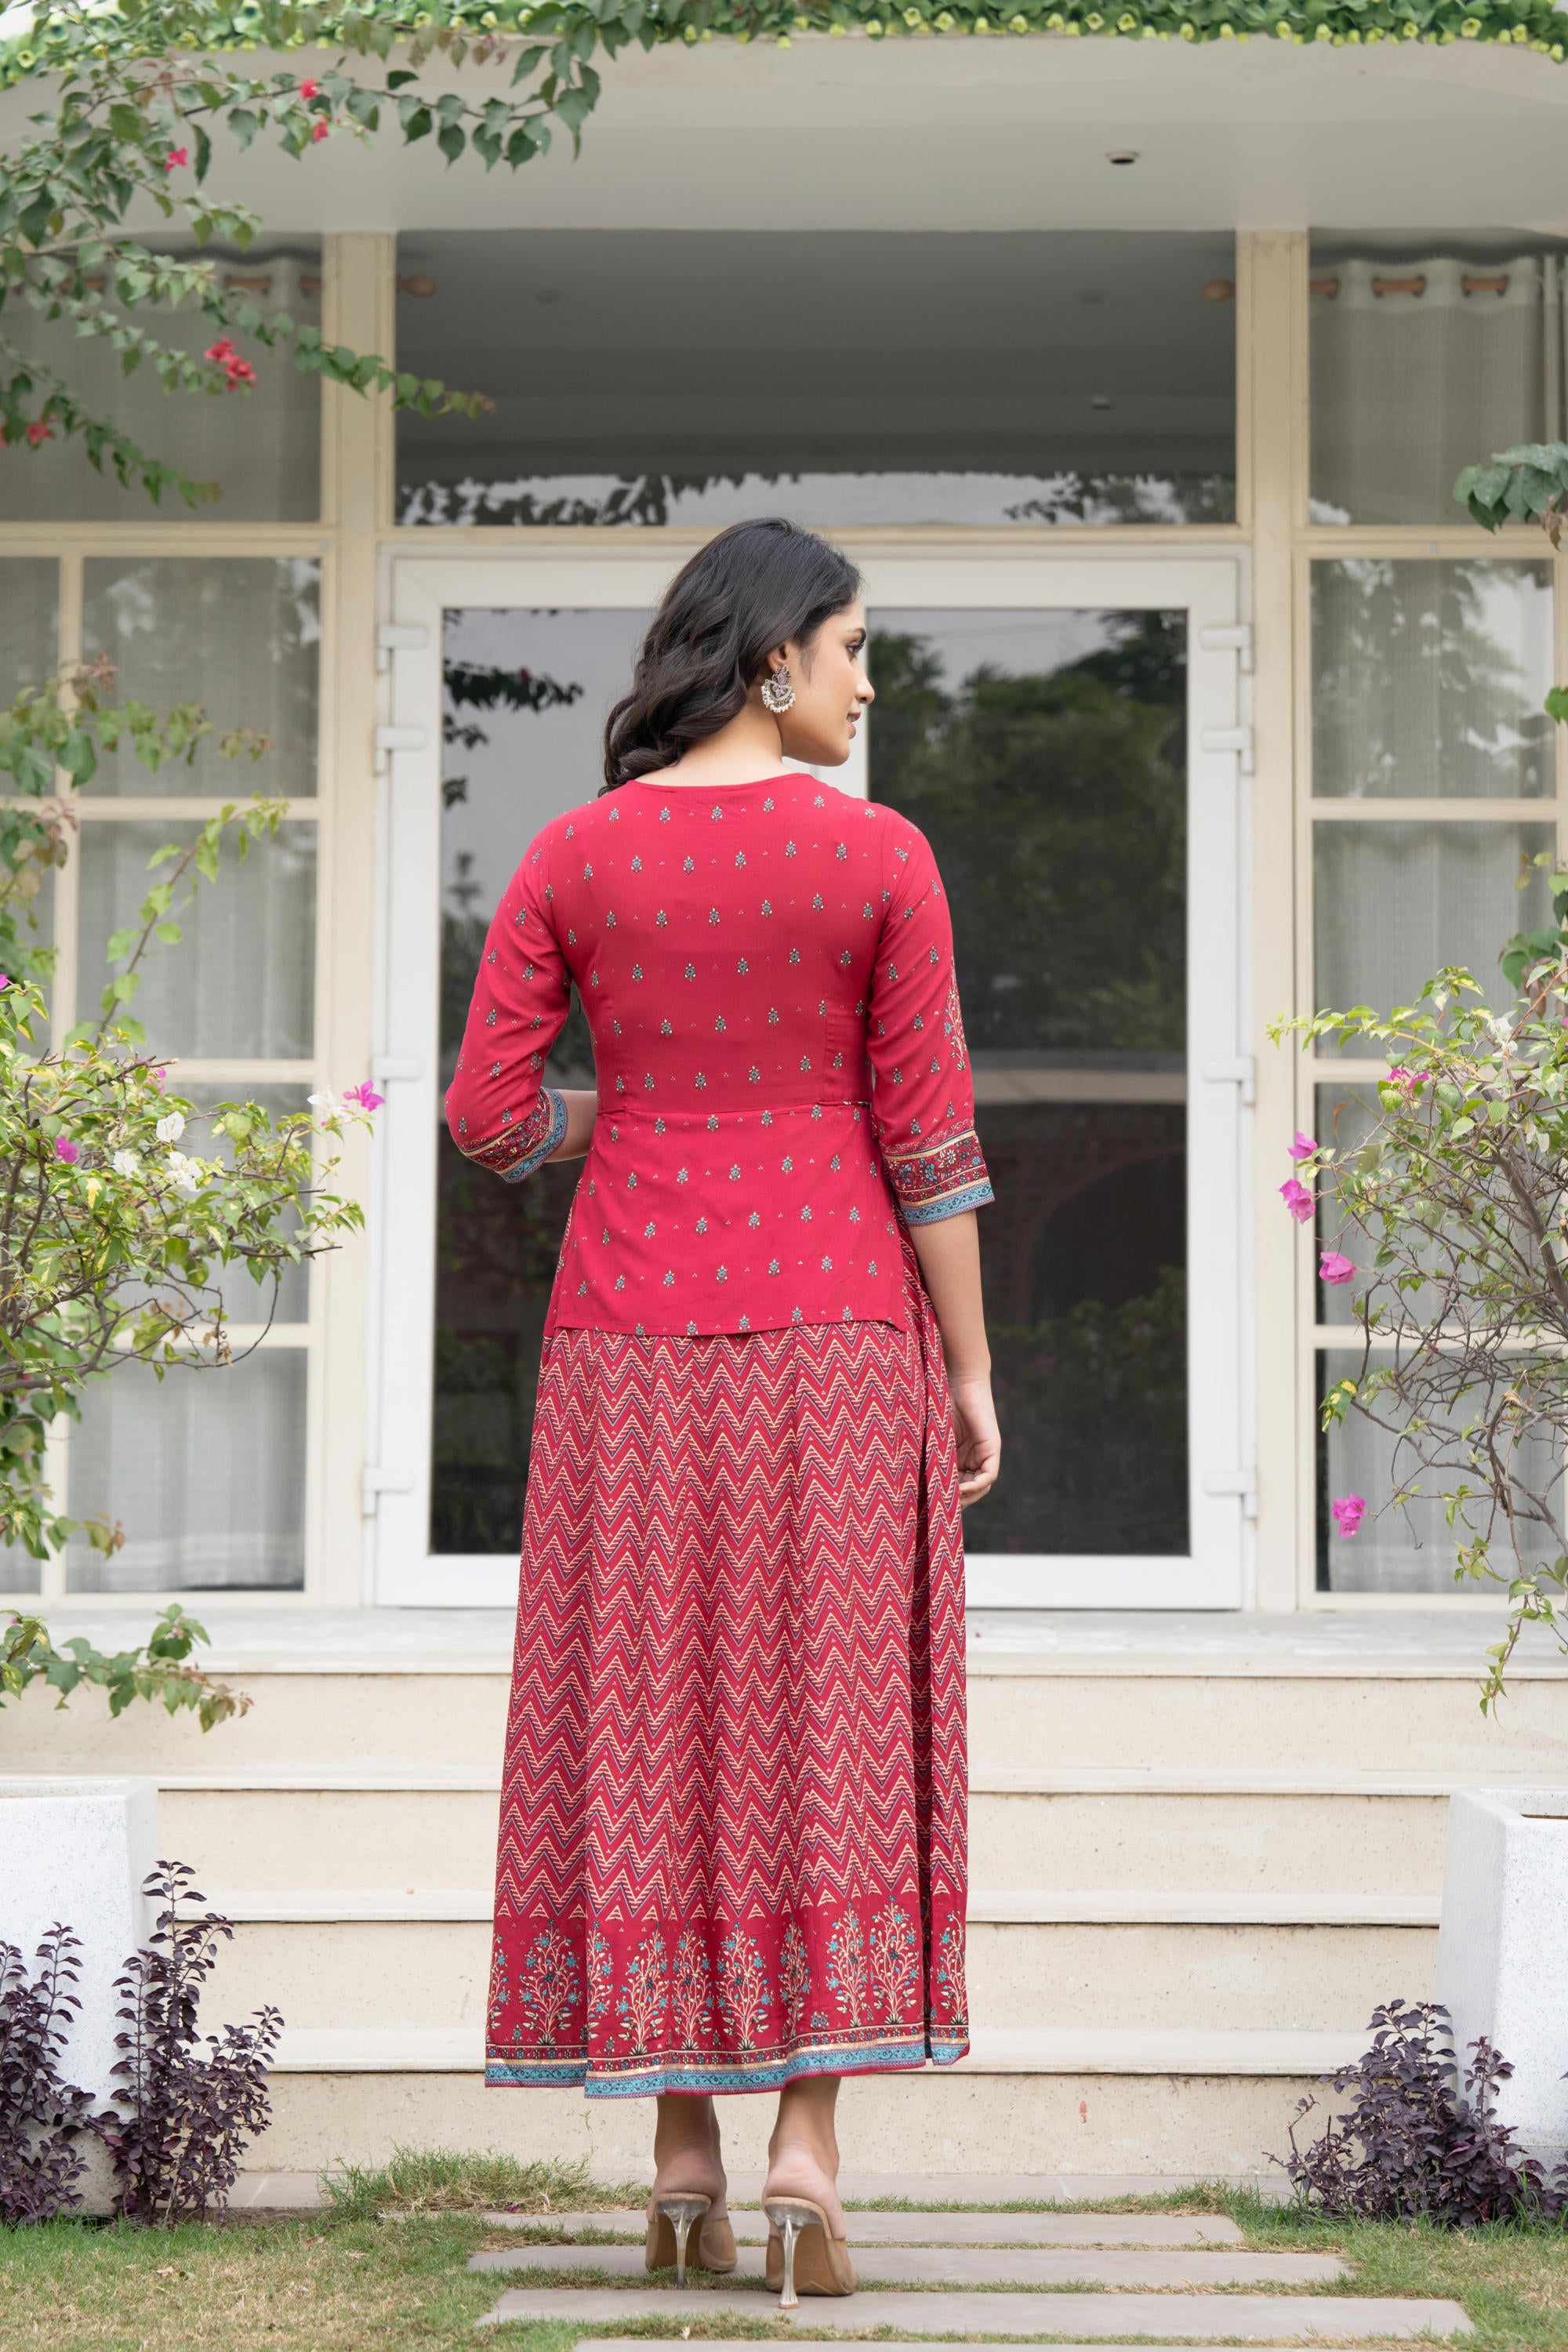
M 1453 1785 L 1413 1773 L 1204 1783 L 1077 1771 L 1001 1790 L 976 1776 L 971 1877 L 985 1889 L 1107 1893 L 1436 1893 Z M 183 1773 L 165 1778 L 160 1797 L 165 1851 L 226 1886 L 484 1886 L 496 1820 L 498 1773 Z

